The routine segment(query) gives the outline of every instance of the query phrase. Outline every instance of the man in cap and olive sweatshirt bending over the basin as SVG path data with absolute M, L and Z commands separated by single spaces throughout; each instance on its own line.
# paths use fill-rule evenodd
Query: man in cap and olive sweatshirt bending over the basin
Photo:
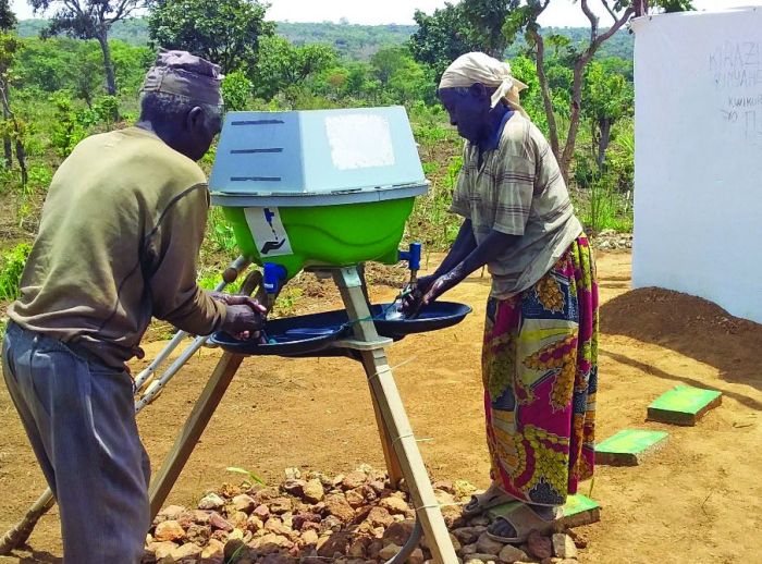
M 257 331 L 263 308 L 196 284 L 209 205 L 196 164 L 221 125 L 219 68 L 161 51 L 135 127 L 79 143 L 53 176 L 11 305 L 3 373 L 61 514 L 64 562 L 137 563 L 149 465 L 125 363 L 151 316 Z

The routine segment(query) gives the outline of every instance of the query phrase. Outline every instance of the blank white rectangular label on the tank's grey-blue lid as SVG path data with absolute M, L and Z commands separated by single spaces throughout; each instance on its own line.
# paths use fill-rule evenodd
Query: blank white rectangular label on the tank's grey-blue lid
M 391 167 L 394 145 L 389 121 L 381 115 L 351 113 L 325 118 L 333 165 L 339 170 Z

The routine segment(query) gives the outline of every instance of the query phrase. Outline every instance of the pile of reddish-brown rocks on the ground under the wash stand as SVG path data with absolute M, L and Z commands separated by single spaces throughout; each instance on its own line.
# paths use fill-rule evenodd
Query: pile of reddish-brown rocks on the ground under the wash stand
M 405 491 L 368 466 L 329 477 L 286 470 L 278 487 L 225 485 L 207 492 L 197 508 L 164 507 L 146 539 L 146 564 L 374 564 L 393 557 L 415 525 Z M 460 561 L 465 564 L 576 562 L 577 547 L 565 534 L 533 532 L 513 547 L 487 535 L 490 518 L 462 516 L 475 491 L 470 483 L 440 481 L 437 499 Z M 403 485 L 404 490 L 404 485 Z M 426 564 L 426 538 L 409 564 Z

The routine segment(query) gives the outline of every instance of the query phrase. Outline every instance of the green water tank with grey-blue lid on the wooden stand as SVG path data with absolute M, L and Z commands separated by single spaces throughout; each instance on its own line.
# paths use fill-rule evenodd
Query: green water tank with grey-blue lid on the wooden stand
M 394 263 L 428 182 L 403 107 L 231 112 L 209 186 L 241 253 L 305 267 Z

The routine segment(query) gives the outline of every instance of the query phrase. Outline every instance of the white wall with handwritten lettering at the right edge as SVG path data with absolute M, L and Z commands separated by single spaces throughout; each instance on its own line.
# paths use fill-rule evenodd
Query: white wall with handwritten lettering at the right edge
M 762 7 L 634 27 L 634 284 L 762 322 Z

